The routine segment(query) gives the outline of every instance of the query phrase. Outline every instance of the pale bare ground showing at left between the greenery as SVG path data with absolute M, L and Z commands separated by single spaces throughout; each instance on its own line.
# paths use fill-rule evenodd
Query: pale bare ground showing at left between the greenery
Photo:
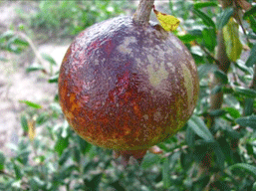
M 0 2 L 0 33 L 4 33 L 11 25 L 18 25 L 16 9 L 19 7 L 33 11 L 33 4 L 24 4 L 21 1 Z M 35 45 L 40 54 L 53 57 L 58 65 L 54 71 L 57 71 L 70 43 L 60 45 L 47 42 L 37 45 L 35 42 Z M 8 144 L 18 142 L 22 133 L 20 116 L 27 107 L 19 100 L 30 100 L 47 108 L 57 93 L 57 86 L 49 84 L 49 76 L 41 72 L 26 72 L 27 67 L 37 63 L 30 48 L 22 55 L 0 52 L 0 56 L 8 59 L 8 62 L 0 61 L 0 150 L 11 155 Z

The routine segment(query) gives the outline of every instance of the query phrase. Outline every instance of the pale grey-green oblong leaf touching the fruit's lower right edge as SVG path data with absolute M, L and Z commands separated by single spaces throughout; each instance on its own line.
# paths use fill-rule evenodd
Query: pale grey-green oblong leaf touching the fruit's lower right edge
M 198 116 L 192 116 L 187 122 L 189 128 L 191 128 L 198 136 L 203 138 L 207 142 L 214 142 L 214 137 Z

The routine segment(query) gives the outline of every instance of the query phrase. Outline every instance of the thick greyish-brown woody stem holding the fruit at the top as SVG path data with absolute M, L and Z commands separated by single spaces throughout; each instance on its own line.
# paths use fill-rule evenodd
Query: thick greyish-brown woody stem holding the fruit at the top
M 132 16 L 133 22 L 138 25 L 148 25 L 153 3 L 154 0 L 140 0 L 137 9 Z

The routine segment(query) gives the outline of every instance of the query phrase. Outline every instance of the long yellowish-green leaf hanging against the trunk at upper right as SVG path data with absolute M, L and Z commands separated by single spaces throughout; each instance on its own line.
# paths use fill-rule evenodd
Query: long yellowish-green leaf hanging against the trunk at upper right
M 226 46 L 226 54 L 230 61 L 235 62 L 240 58 L 243 46 L 239 39 L 239 26 L 231 17 L 223 27 L 223 38 Z

